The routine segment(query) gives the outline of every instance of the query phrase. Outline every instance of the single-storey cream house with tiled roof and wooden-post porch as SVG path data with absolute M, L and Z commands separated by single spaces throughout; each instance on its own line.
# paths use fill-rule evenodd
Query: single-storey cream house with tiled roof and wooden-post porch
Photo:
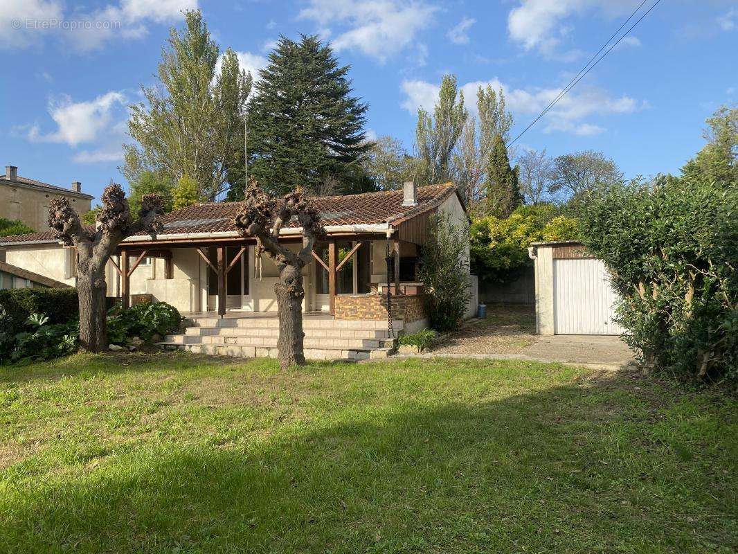
M 314 263 L 303 270 L 306 350 L 311 349 L 309 341 L 314 340 L 315 346 L 315 352 L 306 355 L 330 358 L 340 351 L 361 358 L 381 346 L 381 335 L 388 331 L 415 332 L 427 326 L 423 287 L 417 281 L 418 256 L 434 213 L 447 214 L 454 225 L 469 225 L 455 186 L 446 183 L 416 188 L 409 182 L 402 191 L 323 196 L 312 202 L 328 238 L 316 245 Z M 252 346 L 259 344 L 259 329 L 270 325 L 274 333 L 277 329 L 277 267 L 266 255 L 255 256 L 255 239 L 238 235 L 231 224 L 237 211 L 238 202 L 197 204 L 161 216 L 163 230 L 156 239 L 128 237 L 108 263 L 108 295 L 120 296 L 124 305 L 130 303 L 131 295 L 150 295 L 152 300 L 168 302 L 189 316 L 195 328 L 220 329 L 213 335 L 215 339 L 188 329 L 181 338 L 184 345 L 208 352 L 221 345 L 224 353 L 235 355 L 238 350 L 252 355 Z M 281 231 L 281 240 L 295 250 L 302 244 L 297 225 L 293 221 Z M 75 282 L 75 250 L 61 246 L 50 232 L 1 238 L 0 249 L 5 250 L 9 263 L 55 276 L 67 284 Z M 387 289 L 392 297 L 391 318 Z M 470 296 L 469 317 L 476 311 L 475 276 L 470 276 Z M 264 317 L 274 321 L 263 321 Z M 390 320 L 392 329 L 387 329 Z M 224 329 L 238 325 L 242 329 L 253 326 L 253 336 L 243 331 L 239 331 L 241 335 L 224 335 L 229 332 Z M 354 336 L 357 333 L 367 337 Z M 259 337 L 266 341 L 262 342 L 265 348 L 276 344 L 276 338 Z M 236 338 L 238 342 L 225 341 Z M 244 350 L 246 344 L 249 348 Z M 348 347 L 351 345 L 356 349 Z

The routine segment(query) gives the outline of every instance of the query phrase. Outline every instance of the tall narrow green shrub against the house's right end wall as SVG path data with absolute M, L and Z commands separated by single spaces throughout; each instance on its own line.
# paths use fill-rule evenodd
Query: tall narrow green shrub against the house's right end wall
M 425 285 L 430 326 L 438 331 L 458 329 L 469 300 L 469 234 L 451 225 L 447 216 L 430 219 L 430 236 L 421 254 L 420 281 Z

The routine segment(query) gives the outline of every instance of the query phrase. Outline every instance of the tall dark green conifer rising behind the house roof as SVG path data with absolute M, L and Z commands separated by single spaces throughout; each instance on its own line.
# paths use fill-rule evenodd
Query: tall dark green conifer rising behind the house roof
M 297 186 L 319 192 L 326 180 L 337 193 L 356 191 L 371 146 L 367 105 L 351 96 L 350 66 L 339 66 L 317 36 L 301 37 L 280 37 L 249 100 L 249 179 L 275 195 Z

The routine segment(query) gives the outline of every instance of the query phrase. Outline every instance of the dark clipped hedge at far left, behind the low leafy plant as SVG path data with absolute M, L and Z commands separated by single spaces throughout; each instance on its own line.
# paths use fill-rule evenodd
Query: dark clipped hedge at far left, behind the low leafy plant
M 0 290 L 0 329 L 9 335 L 21 332 L 30 314 L 46 315 L 49 324 L 65 324 L 79 317 L 77 289 Z

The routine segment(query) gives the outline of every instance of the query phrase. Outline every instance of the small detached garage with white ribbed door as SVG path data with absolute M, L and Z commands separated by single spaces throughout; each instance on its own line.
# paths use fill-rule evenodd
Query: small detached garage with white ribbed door
M 540 335 L 620 335 L 618 294 L 604 263 L 580 242 L 536 242 L 536 332 Z

